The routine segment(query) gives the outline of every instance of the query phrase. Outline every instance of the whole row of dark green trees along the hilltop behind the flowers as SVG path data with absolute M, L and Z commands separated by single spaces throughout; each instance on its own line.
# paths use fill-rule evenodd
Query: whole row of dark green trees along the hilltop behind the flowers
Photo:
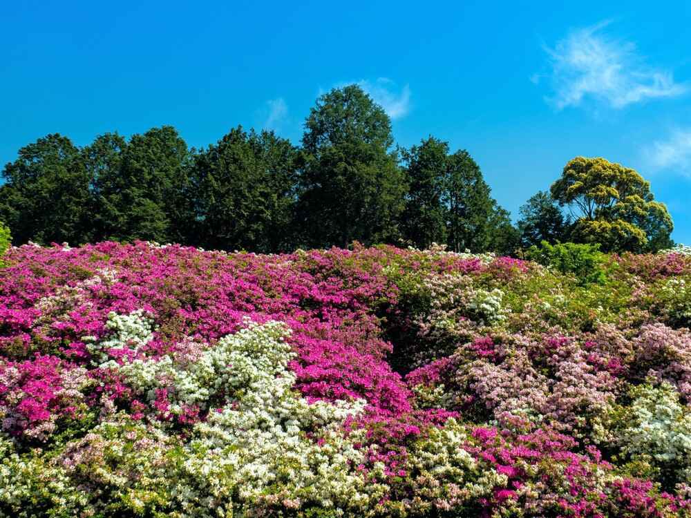
M 578 234 L 583 218 L 562 213 L 582 200 L 556 192 L 531 198 L 514 226 L 467 151 L 431 136 L 395 147 L 390 119 L 358 86 L 317 99 L 301 146 L 240 126 L 201 149 L 171 126 L 129 140 L 106 133 L 82 148 L 52 134 L 21 148 L 3 178 L 0 220 L 15 244 L 139 239 L 277 252 L 357 240 L 510 254 L 543 239 L 593 240 Z M 652 246 L 644 241 L 635 246 Z

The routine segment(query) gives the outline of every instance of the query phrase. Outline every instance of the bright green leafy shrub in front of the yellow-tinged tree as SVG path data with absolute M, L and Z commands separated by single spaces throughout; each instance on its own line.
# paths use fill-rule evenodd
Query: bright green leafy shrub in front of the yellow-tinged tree
M 530 247 L 526 255 L 562 274 L 573 274 L 582 286 L 604 284 L 607 280 L 607 255 L 600 252 L 599 244 L 549 244 L 542 241 L 540 247 Z

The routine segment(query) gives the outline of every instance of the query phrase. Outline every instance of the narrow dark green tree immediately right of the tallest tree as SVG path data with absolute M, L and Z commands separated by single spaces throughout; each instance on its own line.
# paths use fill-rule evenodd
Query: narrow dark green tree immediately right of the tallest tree
M 446 240 L 446 210 L 442 204 L 448 143 L 435 137 L 402 151 L 408 181 L 406 207 L 401 215 L 404 238 L 420 248 Z

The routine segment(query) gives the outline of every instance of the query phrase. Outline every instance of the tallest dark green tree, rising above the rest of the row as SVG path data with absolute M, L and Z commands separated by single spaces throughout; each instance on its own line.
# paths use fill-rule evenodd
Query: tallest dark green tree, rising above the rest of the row
M 296 225 L 309 246 L 392 241 L 406 185 L 391 123 L 359 86 L 321 96 L 305 120 Z

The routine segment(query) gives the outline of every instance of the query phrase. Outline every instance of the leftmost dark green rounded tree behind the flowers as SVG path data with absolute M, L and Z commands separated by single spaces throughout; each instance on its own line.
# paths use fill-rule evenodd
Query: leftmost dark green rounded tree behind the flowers
M 54 133 L 24 146 L 2 174 L 0 218 L 16 242 L 91 240 L 90 178 L 67 137 Z

